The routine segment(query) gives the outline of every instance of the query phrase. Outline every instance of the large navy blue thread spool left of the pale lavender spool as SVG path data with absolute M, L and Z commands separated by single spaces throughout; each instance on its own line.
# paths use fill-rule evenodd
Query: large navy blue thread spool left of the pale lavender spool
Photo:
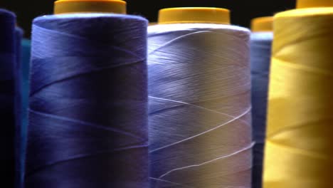
M 33 21 L 26 188 L 148 187 L 148 23 L 90 8 Z

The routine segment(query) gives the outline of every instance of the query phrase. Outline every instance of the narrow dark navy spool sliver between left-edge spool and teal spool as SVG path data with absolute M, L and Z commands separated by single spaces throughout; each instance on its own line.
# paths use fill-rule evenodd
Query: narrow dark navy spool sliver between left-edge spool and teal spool
M 23 30 L 19 27 L 15 28 L 15 57 L 14 63 L 14 80 L 15 80 L 15 187 L 21 187 L 21 174 L 23 172 L 23 140 L 22 140 L 22 115 L 23 115 L 23 90 L 22 88 L 22 60 L 21 60 L 21 41 L 23 38 Z

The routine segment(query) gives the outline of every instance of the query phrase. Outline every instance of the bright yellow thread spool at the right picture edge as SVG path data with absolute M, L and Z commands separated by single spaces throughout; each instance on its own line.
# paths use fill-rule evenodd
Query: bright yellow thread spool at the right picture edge
M 265 188 L 332 187 L 332 23 L 333 7 L 274 17 Z

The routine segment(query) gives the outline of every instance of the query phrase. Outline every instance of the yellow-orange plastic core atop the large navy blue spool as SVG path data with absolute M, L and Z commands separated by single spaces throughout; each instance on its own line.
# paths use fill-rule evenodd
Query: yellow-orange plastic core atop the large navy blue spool
M 122 0 L 58 0 L 54 3 L 54 14 L 82 12 L 126 14 L 126 2 Z

